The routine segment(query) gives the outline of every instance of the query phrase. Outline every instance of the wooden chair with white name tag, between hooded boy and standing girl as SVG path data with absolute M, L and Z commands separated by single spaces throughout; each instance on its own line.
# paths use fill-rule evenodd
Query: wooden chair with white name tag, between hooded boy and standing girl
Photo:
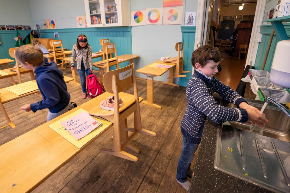
M 57 65 L 61 65 L 60 69 L 66 69 L 70 67 L 69 62 L 64 61 L 63 59 L 66 58 L 66 55 L 63 50 L 63 43 L 61 40 L 50 40 L 49 42 L 50 46 L 53 48 L 53 52 L 50 53 L 50 55 L 53 55 L 54 62 Z M 56 51 L 56 47 L 61 47 L 60 51 Z M 61 61 L 60 63 L 58 61 Z M 64 64 L 67 64 L 66 68 L 63 66 Z

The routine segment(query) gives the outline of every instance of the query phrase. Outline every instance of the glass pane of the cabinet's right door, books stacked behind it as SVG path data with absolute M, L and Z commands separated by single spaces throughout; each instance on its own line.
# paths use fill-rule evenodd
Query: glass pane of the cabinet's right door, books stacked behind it
M 118 23 L 117 4 L 114 0 L 104 0 L 106 24 Z

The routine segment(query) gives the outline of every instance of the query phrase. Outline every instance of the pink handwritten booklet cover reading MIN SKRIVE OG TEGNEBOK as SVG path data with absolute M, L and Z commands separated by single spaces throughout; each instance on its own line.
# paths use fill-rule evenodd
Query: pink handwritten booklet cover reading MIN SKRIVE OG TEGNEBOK
M 76 140 L 79 140 L 100 126 L 102 122 L 98 122 L 87 112 L 83 111 L 60 124 L 63 125 Z

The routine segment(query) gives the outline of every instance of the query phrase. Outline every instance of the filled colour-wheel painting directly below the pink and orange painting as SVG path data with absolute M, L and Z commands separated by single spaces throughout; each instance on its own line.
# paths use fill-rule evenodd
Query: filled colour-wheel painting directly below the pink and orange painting
M 182 24 L 183 6 L 163 8 L 163 24 L 177 25 Z

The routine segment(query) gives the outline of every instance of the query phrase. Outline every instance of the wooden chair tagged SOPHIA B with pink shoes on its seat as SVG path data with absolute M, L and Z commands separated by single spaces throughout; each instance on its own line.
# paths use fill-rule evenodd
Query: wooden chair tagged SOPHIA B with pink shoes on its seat
M 107 92 L 101 94 L 103 100 L 105 100 L 109 93 L 114 94 L 114 111 L 101 109 L 99 105 L 89 111 L 89 114 L 101 116 L 113 123 L 113 144 L 112 149 L 101 149 L 101 152 L 108 153 L 117 157 L 121 157 L 127 160 L 137 161 L 138 158 L 132 154 L 129 154 L 124 150 L 128 147 L 134 152 L 140 153 L 140 150 L 134 145 L 130 144 L 130 141 L 138 134 L 146 134 L 156 136 L 156 133 L 143 129 L 141 125 L 140 106 L 139 103 L 142 98 L 138 96 L 137 81 L 134 71 L 134 63 L 124 68 L 108 71 L 104 74 L 104 87 Z M 120 77 L 124 75 L 124 79 L 120 80 Z M 123 91 L 134 86 L 134 95 L 122 93 Z M 122 99 L 124 105 L 119 108 L 119 100 Z M 127 117 L 134 112 L 134 128 L 128 128 Z M 128 136 L 128 131 L 133 132 Z

